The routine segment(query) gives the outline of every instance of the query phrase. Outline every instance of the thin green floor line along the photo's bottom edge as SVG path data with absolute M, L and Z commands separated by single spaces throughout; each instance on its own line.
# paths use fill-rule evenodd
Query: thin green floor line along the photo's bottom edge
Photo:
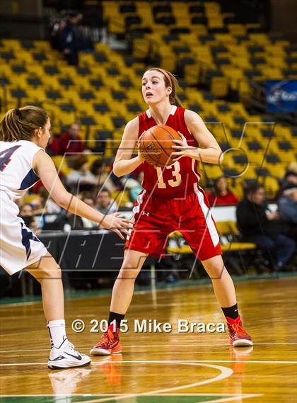
M 11 396 L 11 397 L 0 397 L 0 403 L 76 403 L 76 402 L 88 402 L 92 403 L 93 400 L 106 399 L 106 395 L 92 395 L 92 396 Z M 164 396 L 164 395 L 154 395 L 154 396 L 137 396 L 137 397 L 127 397 L 126 399 L 121 399 L 124 403 L 198 403 L 198 402 L 209 402 L 217 400 L 218 403 L 221 399 L 226 399 L 224 396 L 210 396 L 210 395 L 174 395 L 174 396 Z M 230 396 L 232 397 L 232 396 Z M 110 396 L 112 398 L 112 396 Z M 109 403 L 118 403 L 119 400 L 117 396 L 115 399 L 109 400 Z

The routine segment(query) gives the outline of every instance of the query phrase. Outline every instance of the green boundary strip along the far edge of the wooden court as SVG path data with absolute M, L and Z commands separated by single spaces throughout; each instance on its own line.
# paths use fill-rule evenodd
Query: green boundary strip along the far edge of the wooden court
M 246 281 L 256 280 L 276 280 L 278 278 L 295 278 L 297 271 L 290 273 L 271 273 L 271 274 L 258 274 L 258 275 L 245 275 L 245 276 L 232 276 L 234 283 L 242 283 Z M 175 288 L 193 287 L 195 285 L 208 285 L 211 284 L 209 278 L 201 278 L 199 280 L 180 280 L 174 284 L 157 283 L 156 290 L 174 290 Z M 151 285 L 136 285 L 135 291 L 150 291 Z M 65 292 L 66 300 L 74 300 L 86 297 L 100 297 L 101 295 L 110 295 L 112 288 L 104 288 L 103 290 L 77 290 L 72 292 Z M 8 304 L 22 304 L 24 302 L 37 302 L 41 301 L 41 295 L 33 295 L 32 297 L 4 297 L 0 299 L 0 305 Z M 1 402 L 1 400 L 0 400 Z

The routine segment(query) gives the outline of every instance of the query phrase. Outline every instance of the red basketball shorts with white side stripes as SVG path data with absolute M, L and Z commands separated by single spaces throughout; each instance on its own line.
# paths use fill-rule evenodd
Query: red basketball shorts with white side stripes
M 157 197 L 143 190 L 133 212 L 125 249 L 161 256 L 170 232 L 180 231 L 200 261 L 222 254 L 209 202 L 197 183 L 182 198 Z

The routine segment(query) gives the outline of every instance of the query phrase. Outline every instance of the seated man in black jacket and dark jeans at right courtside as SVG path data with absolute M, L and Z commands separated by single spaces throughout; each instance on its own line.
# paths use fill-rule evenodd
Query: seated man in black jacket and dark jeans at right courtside
M 296 244 L 286 237 L 279 212 L 270 211 L 265 203 L 263 186 L 253 183 L 248 187 L 245 198 L 238 204 L 236 217 L 244 240 L 257 244 L 267 259 L 272 260 L 274 270 L 289 261 Z

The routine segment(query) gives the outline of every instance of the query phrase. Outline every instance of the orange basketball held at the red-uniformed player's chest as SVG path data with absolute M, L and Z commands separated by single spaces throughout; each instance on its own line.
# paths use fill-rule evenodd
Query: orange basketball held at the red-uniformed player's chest
M 171 146 L 176 145 L 173 140 L 180 140 L 180 135 L 172 127 L 156 125 L 144 132 L 139 142 L 139 150 L 148 164 L 171 165 L 173 158 L 170 155 L 175 151 Z

